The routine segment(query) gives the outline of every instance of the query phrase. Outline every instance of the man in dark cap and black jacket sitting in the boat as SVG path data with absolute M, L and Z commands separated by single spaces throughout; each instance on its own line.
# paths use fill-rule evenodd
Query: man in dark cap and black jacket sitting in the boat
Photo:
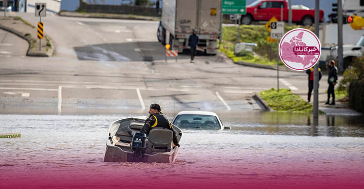
M 145 124 L 142 128 L 141 133 L 145 133 L 149 135 L 150 129 L 153 128 L 166 128 L 173 131 L 173 144 L 180 147 L 178 143 L 177 134 L 174 131 L 171 123 L 169 122 L 168 118 L 165 114 L 161 111 L 162 108 L 159 104 L 151 104 L 149 107 L 149 118 L 145 121 Z

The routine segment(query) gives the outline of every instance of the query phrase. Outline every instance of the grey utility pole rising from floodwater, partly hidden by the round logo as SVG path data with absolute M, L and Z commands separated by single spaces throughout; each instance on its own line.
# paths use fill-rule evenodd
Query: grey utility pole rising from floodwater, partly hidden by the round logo
M 319 24 L 319 0 L 315 0 L 314 6 L 314 34 L 318 37 Z M 321 50 L 321 49 L 320 49 Z M 314 126 L 318 125 L 318 62 L 314 65 Z

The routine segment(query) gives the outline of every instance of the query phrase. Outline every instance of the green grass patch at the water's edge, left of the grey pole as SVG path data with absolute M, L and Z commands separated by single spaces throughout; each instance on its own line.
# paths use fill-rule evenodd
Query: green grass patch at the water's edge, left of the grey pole
M 312 112 L 313 106 L 289 89 L 269 89 L 259 93 L 268 105 L 281 112 Z

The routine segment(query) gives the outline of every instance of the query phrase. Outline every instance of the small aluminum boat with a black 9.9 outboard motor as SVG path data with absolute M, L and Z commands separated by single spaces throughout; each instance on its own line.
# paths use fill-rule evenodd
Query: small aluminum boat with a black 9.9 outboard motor
M 169 129 L 153 128 L 146 138 L 146 135 L 139 133 L 146 119 L 146 116 L 131 117 L 111 124 L 106 141 L 105 162 L 173 163 L 176 160 L 178 146 L 173 145 L 173 132 Z M 182 130 L 172 126 L 180 142 Z

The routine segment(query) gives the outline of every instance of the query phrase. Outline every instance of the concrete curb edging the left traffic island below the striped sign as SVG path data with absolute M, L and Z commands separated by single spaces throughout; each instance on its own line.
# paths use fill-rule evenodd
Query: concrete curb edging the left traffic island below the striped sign
M 37 57 L 50 57 L 53 54 L 53 43 L 50 40 L 50 38 L 47 35 L 44 35 L 45 38 L 48 38 L 50 41 L 50 45 L 51 47 L 48 49 L 47 53 L 42 53 L 42 52 L 34 52 L 34 43 L 36 43 L 36 39 L 33 39 L 32 37 L 30 37 L 29 35 L 26 35 L 20 31 L 16 31 L 12 28 L 3 26 L 0 24 L 0 29 L 5 30 L 5 31 L 9 31 L 11 33 L 16 34 L 17 36 L 23 38 L 24 40 L 28 41 L 29 47 L 28 47 L 28 51 L 27 51 L 27 56 L 37 56 Z

